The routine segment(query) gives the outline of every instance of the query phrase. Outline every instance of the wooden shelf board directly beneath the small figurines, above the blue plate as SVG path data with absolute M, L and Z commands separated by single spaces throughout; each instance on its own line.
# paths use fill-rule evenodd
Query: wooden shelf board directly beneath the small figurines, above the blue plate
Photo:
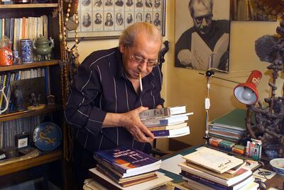
M 34 110 L 34 111 L 26 110 L 26 111 L 23 111 L 23 112 L 14 112 L 14 113 L 11 113 L 11 114 L 2 114 L 2 115 L 0 115 L 0 122 L 11 121 L 13 119 L 19 119 L 19 118 L 23 118 L 23 117 L 31 117 L 31 116 L 35 116 L 35 115 L 38 115 L 38 114 L 46 114 L 46 113 L 50 113 L 50 112 L 59 111 L 60 109 L 62 109 L 61 105 L 46 105 L 45 108 Z

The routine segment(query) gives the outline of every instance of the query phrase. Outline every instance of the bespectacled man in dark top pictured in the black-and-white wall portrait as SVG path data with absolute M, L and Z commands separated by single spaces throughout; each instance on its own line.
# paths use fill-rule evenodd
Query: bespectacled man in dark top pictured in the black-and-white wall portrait
M 175 66 L 207 70 L 213 54 L 212 67 L 227 71 L 229 20 L 212 20 L 213 0 L 190 0 L 188 7 L 194 26 L 175 44 Z

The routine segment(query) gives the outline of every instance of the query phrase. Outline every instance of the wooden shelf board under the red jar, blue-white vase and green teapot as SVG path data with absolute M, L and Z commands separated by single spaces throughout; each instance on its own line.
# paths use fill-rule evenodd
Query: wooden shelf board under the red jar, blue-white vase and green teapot
M 0 66 L 1 71 L 12 71 L 18 69 L 29 69 L 41 66 L 52 66 L 59 64 L 59 60 L 51 60 L 51 61 L 34 61 L 30 64 L 21 64 L 21 65 L 12 65 L 12 66 Z

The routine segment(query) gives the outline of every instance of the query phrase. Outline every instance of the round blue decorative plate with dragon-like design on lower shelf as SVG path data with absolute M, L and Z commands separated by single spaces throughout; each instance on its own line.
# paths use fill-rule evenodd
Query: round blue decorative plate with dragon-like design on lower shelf
M 33 143 L 40 150 L 54 150 L 62 140 L 60 127 L 53 122 L 44 122 L 35 127 Z

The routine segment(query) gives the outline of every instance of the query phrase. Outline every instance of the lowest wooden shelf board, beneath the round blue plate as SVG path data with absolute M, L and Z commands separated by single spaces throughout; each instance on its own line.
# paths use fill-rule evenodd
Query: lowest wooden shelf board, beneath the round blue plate
M 7 165 L 0 166 L 0 176 L 11 174 L 13 172 L 18 172 L 21 170 L 26 170 L 31 167 L 43 165 L 43 164 L 53 162 L 55 160 L 60 160 L 60 159 L 62 159 L 61 150 L 42 152 L 42 155 L 36 158 L 31 158 L 28 160 L 23 160 L 21 162 L 13 162 Z

